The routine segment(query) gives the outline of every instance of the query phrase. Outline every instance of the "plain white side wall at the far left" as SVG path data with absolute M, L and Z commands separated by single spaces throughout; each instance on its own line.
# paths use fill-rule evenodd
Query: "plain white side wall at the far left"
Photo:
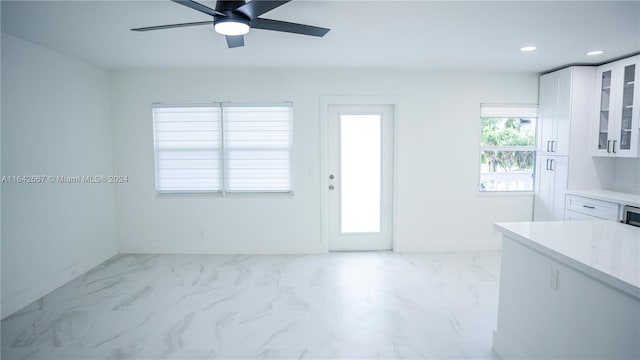
M 2 176 L 113 173 L 109 74 L 2 34 Z M 2 184 L 2 317 L 117 253 L 106 184 Z

